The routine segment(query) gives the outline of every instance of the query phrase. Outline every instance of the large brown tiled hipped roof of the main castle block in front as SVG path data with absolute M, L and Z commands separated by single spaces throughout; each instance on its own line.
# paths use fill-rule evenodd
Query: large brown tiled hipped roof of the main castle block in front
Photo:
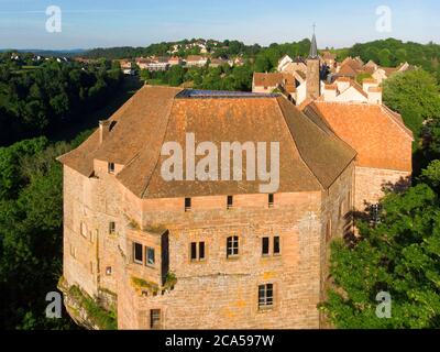
M 124 165 L 119 182 L 140 198 L 256 194 L 260 182 L 165 182 L 161 175 L 164 142 L 279 142 L 280 193 L 328 189 L 352 163 L 355 152 L 280 96 L 202 98 L 180 89 L 145 86 L 110 118 L 113 129 L 99 143 L 96 131 L 58 160 L 90 177 L 94 160 Z M 178 95 L 178 96 L 177 96 Z M 220 98 L 221 97 L 221 98 Z

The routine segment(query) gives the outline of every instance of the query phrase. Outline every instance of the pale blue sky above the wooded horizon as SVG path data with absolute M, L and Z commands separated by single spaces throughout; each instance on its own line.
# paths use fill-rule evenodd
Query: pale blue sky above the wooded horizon
M 51 6 L 61 10 L 61 32 L 46 30 L 54 23 Z M 380 7 L 389 12 L 377 14 Z M 146 46 L 193 37 L 268 45 L 310 37 L 314 23 L 320 48 L 386 37 L 440 43 L 440 1 L 0 0 L 0 48 Z

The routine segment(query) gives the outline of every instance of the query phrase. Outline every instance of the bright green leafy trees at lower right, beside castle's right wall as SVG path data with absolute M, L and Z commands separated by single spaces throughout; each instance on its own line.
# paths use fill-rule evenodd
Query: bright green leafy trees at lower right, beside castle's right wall
M 322 309 L 337 328 L 440 328 L 439 206 L 426 184 L 391 194 L 380 226 L 363 223 L 354 246 L 332 244 L 334 287 Z M 391 319 L 375 315 L 380 292 L 392 296 Z

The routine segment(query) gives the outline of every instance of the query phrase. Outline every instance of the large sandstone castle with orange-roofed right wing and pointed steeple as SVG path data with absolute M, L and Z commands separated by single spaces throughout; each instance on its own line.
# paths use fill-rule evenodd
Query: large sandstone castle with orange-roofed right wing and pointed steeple
M 329 243 L 353 231 L 353 211 L 376 204 L 384 185 L 410 176 L 413 134 L 382 103 L 320 99 L 316 41 L 306 64 L 302 110 L 277 94 L 144 86 L 58 158 L 74 319 L 87 312 L 72 287 L 116 307 L 119 329 L 322 327 Z M 161 150 L 187 133 L 277 141 L 279 188 L 165 180 Z

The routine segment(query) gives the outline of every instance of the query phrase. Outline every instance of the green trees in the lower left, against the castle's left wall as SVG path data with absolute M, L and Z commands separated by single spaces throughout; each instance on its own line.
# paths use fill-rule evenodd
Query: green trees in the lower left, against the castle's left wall
M 0 148 L 1 329 L 75 329 L 65 312 L 44 315 L 62 271 L 63 173 L 55 156 L 68 150 L 44 138 Z

